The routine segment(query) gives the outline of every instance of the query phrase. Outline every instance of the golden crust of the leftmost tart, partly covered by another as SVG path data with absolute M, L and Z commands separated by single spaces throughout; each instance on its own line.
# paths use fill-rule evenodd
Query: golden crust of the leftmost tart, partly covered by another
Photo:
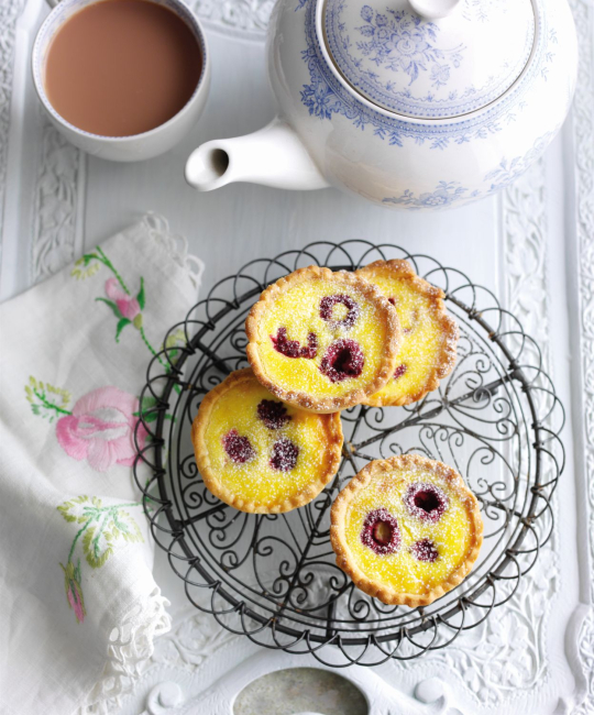
M 324 453 L 323 463 L 317 473 L 311 474 L 311 480 L 299 491 L 286 498 L 272 499 L 266 503 L 252 498 L 246 501 L 228 487 L 224 479 L 212 464 L 211 453 L 209 451 L 209 440 L 207 431 L 212 418 L 213 409 L 217 403 L 229 393 L 229 391 L 245 386 L 246 383 L 253 382 L 260 389 L 260 383 L 249 367 L 231 373 L 222 383 L 211 389 L 202 399 L 200 408 L 191 426 L 191 441 L 198 470 L 202 476 L 207 488 L 221 502 L 239 509 L 252 514 L 279 514 L 290 512 L 296 507 L 308 504 L 316 498 L 323 487 L 331 481 L 338 471 L 342 455 L 342 425 L 338 413 L 332 415 L 310 415 L 308 419 L 318 419 L 319 430 L 323 431 Z M 271 395 L 271 397 L 273 397 Z M 298 408 L 294 408 L 298 413 Z M 302 410 L 305 411 L 305 410 Z M 256 418 L 254 416 L 254 422 Z

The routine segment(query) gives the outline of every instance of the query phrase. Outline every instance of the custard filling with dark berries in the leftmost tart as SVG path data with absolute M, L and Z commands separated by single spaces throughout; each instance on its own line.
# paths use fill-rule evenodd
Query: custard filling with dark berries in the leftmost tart
M 274 410 L 272 424 L 276 420 L 279 427 L 271 428 L 271 419 L 266 424 L 258 417 L 263 400 L 268 411 Z M 205 432 L 210 466 L 219 482 L 245 503 L 284 502 L 327 471 L 333 417 L 284 405 L 255 377 L 239 382 L 212 407 Z

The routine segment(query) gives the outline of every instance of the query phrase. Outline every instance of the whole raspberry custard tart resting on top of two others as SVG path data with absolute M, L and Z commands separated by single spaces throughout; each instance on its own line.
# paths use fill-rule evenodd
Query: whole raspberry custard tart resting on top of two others
M 282 400 L 334 413 L 377 393 L 394 375 L 398 316 L 362 277 L 310 266 L 262 294 L 245 321 L 248 359 Z

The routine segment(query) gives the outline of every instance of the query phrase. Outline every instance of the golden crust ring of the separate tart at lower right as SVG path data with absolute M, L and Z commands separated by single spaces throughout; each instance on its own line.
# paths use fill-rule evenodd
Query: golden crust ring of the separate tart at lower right
M 470 521 L 470 547 L 466 558 L 442 582 L 424 594 L 400 593 L 378 580 L 370 579 L 354 562 L 345 537 L 346 512 L 355 495 L 364 490 L 372 480 L 381 475 L 393 470 L 414 470 L 415 468 L 431 471 L 447 482 L 449 487 L 460 496 Z M 476 497 L 466 487 L 458 472 L 442 462 L 427 459 L 420 454 L 403 454 L 387 460 L 370 462 L 340 492 L 331 509 L 330 540 L 337 554 L 337 565 L 352 579 L 358 588 L 370 596 L 380 598 L 385 604 L 406 605 L 410 608 L 417 608 L 427 606 L 436 598 L 441 597 L 460 584 L 470 573 L 483 543 L 483 519 Z

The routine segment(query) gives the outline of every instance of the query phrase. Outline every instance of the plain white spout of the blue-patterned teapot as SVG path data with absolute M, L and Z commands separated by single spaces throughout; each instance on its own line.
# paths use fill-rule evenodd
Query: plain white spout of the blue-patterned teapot
M 330 186 L 299 136 L 279 118 L 253 134 L 201 144 L 186 163 L 186 180 L 199 191 L 233 182 L 297 190 Z

